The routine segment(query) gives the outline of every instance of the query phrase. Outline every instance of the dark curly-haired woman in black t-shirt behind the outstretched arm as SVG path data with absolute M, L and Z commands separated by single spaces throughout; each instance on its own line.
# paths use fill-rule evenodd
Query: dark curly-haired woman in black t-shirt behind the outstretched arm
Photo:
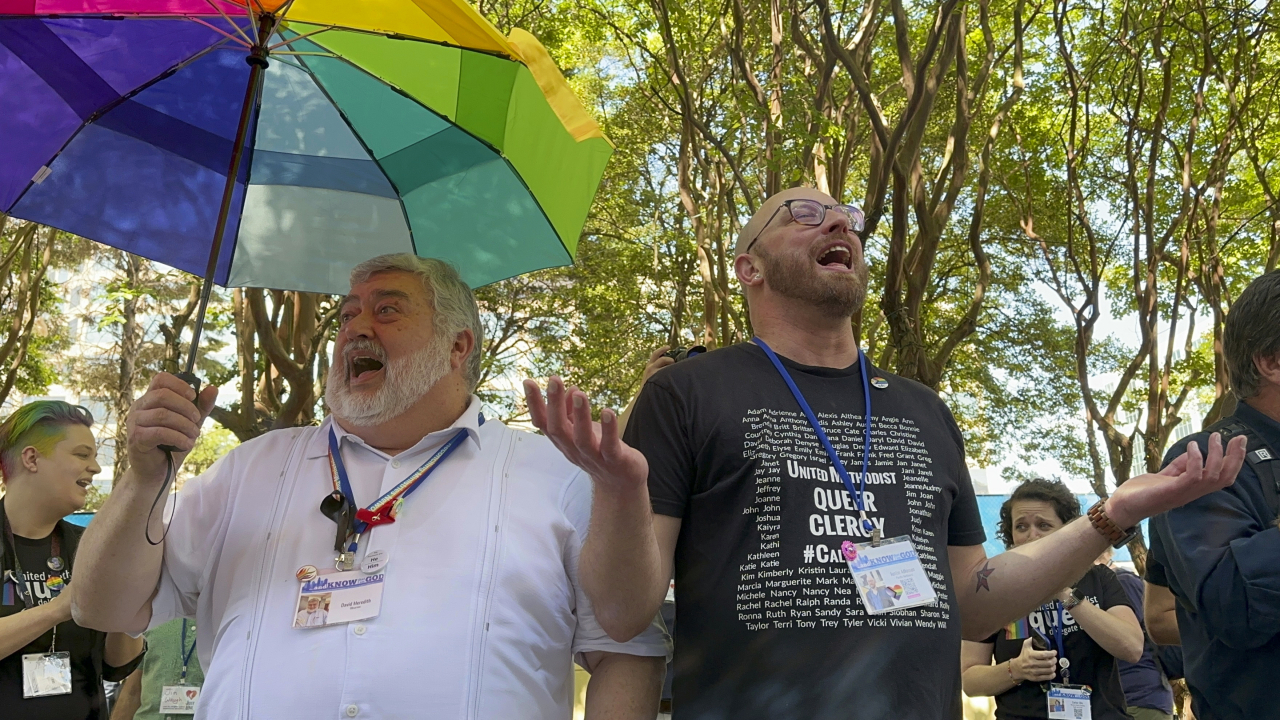
M 1005 547 L 1016 548 L 1079 516 L 1080 503 L 1065 484 L 1028 480 L 1001 506 L 997 534 Z M 1047 650 L 1034 647 L 1037 638 Z M 1091 714 L 1084 717 L 1129 719 L 1116 659 L 1134 662 L 1142 647 L 1142 626 L 1124 585 L 1110 568 L 1094 565 L 1027 618 L 983 642 L 966 641 L 960 661 L 964 692 L 996 696 L 1000 720 L 1079 717 L 1051 691 L 1087 685 Z

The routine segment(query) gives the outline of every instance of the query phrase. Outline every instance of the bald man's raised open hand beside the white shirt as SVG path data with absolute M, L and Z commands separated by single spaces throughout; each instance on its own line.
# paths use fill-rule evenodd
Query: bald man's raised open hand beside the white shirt
M 599 423 L 591 420 L 586 393 L 576 387 L 566 388 L 554 375 L 547 383 L 545 401 L 538 383 L 525 380 L 525 400 L 534 425 L 593 480 L 618 489 L 648 482 L 649 462 L 618 437 L 618 418 L 613 410 L 602 410 Z

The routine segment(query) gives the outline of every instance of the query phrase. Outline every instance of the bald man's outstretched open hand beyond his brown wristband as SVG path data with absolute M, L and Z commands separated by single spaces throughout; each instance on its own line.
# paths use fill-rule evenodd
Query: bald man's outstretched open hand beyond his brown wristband
M 1220 491 L 1235 482 L 1235 474 L 1244 465 L 1243 436 L 1231 438 L 1222 447 L 1222 436 L 1208 438 L 1208 452 L 1202 454 L 1198 443 L 1187 446 L 1187 452 L 1158 473 L 1129 478 L 1111 493 L 1107 515 L 1120 528 L 1132 528 L 1144 518 Z

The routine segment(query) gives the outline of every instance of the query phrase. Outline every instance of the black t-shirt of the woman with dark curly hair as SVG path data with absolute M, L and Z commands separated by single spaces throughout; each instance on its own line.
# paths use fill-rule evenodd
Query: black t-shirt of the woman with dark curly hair
M 1123 605 L 1133 610 L 1128 593 L 1116 574 L 1106 566 L 1094 565 L 1076 583 L 1076 589 L 1084 593 L 1087 602 L 1108 610 Z M 1023 643 L 1030 637 L 1028 625 L 1036 628 L 1048 639 L 1051 650 L 1057 650 L 1053 626 L 1057 624 L 1056 605 L 1050 602 L 1032 611 L 1025 619 L 1010 624 L 986 639 L 996 646 L 996 662 L 1012 660 L 1023 652 Z M 1120 685 L 1120 669 L 1116 659 L 1102 650 L 1071 618 L 1070 610 L 1062 612 L 1062 648 L 1071 661 L 1068 667 L 1073 685 L 1089 685 L 1089 706 L 1093 720 L 1126 720 L 1124 688 Z M 1056 682 L 1062 682 L 1059 678 Z M 1014 720 L 1023 717 L 1048 717 L 1048 701 L 1041 683 L 1021 683 L 1011 691 L 996 696 L 996 717 Z

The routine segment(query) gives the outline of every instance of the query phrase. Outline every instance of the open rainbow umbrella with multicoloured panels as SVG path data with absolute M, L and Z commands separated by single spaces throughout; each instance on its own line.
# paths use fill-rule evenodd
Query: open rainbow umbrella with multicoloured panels
M 188 373 L 212 283 L 572 263 L 612 152 L 465 0 L 0 0 L 0 213 L 205 278 Z

